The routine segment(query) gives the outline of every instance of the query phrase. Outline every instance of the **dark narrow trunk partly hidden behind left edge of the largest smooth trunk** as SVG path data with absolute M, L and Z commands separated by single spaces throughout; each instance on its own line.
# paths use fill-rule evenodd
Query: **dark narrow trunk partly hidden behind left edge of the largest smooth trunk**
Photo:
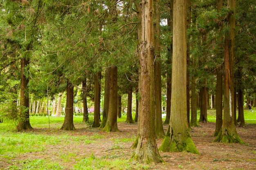
M 167 24 L 170 27 L 170 32 L 173 32 L 173 0 L 170 0 L 170 18 L 167 19 Z M 171 41 L 170 47 L 168 48 L 167 54 L 167 100 L 166 100 L 166 118 L 164 124 L 170 123 L 171 115 L 171 64 L 172 64 L 172 55 L 173 55 L 173 41 Z

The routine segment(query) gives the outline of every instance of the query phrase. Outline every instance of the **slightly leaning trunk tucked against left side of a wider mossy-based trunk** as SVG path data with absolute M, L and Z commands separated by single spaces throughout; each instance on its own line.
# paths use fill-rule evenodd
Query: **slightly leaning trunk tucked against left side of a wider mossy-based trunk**
M 104 90 L 104 106 L 102 113 L 102 122 L 100 128 L 104 128 L 106 126 L 106 122 L 108 119 L 108 107 L 109 107 L 109 91 L 110 91 L 110 68 L 106 68 L 105 71 L 105 90 Z

